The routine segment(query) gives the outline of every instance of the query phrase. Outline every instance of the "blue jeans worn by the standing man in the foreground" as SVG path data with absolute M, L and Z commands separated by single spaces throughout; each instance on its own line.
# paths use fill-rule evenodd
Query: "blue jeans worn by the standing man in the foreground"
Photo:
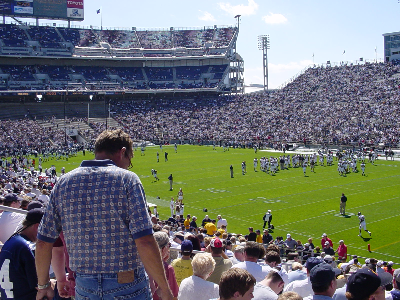
M 134 271 L 134 282 L 119 284 L 117 273 L 76 273 L 76 300 L 151 300 L 144 268 Z

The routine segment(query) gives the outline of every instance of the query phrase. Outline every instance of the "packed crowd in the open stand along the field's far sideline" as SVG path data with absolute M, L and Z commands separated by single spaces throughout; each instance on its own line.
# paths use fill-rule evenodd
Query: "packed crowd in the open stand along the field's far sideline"
M 392 78 L 398 72 L 400 66 L 390 63 L 310 68 L 268 95 L 156 101 L 156 110 L 140 109 L 142 116 L 116 105 L 116 113 L 127 128 L 141 127 L 141 136 L 152 135 L 155 124 L 146 121 L 152 120 L 170 139 L 398 144 L 399 84 Z

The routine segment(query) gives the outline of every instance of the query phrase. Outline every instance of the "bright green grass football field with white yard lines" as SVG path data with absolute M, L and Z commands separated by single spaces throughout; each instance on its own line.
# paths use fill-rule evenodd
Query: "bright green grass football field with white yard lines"
M 146 191 L 148 202 L 158 205 L 160 218 L 170 216 L 170 198 L 176 198 L 179 188 L 184 192 L 184 214 L 196 215 L 198 225 L 206 214 L 216 218 L 221 214 L 228 220 L 228 232 L 247 234 L 249 226 L 262 230 L 262 217 L 268 209 L 272 210 L 271 232 L 286 238 L 300 239 L 303 244 L 309 237 L 314 238 L 314 245 L 320 246 L 320 239 L 325 232 L 332 239 L 336 250 L 338 241 L 343 239 L 348 246 L 348 254 L 374 257 L 381 260 L 400 262 L 398 247 L 400 237 L 400 216 L 398 203 L 400 162 L 376 160 L 376 165 L 366 164 L 366 175 L 350 173 L 347 177 L 338 175 L 334 166 L 316 166 L 315 173 L 307 168 L 308 177 L 303 176 L 301 168 L 279 171 L 275 176 L 264 172 L 254 172 L 253 159 L 261 156 L 279 156 L 276 152 L 252 149 L 230 149 L 223 152 L 222 147 L 212 150 L 205 146 L 178 146 L 178 153 L 173 146 L 164 146 L 168 152 L 168 162 L 164 162 L 164 153 L 160 152 L 157 163 L 156 151 L 159 147 L 148 147 L 146 156 L 135 152 L 132 171 L 139 175 Z M 56 163 L 59 171 L 62 166 L 66 171 L 79 166 L 82 159 L 93 158 L 87 153 L 82 157 L 70 158 L 68 162 Z M 242 175 L 241 162 L 247 162 L 247 174 Z M 46 168 L 54 160 L 43 163 Z M 230 178 L 229 166 L 234 165 L 234 178 Z M 259 165 L 258 165 L 259 166 Z M 160 181 L 154 182 L 151 169 L 158 171 Z M 358 164 L 359 168 L 359 164 Z M 174 190 L 169 190 L 168 176 L 174 177 Z M 340 196 L 344 192 L 348 197 L 346 214 L 339 214 Z M 160 196 L 160 200 L 156 199 Z M 204 213 L 203 208 L 208 212 Z M 357 212 L 366 217 L 367 229 L 372 232 L 358 235 Z M 372 253 L 368 252 L 371 245 Z M 361 260 L 361 262 L 364 262 Z

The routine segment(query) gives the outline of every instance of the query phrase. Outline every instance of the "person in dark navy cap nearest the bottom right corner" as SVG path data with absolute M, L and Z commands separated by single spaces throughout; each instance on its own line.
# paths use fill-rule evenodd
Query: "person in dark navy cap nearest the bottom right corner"
M 392 275 L 387 272 L 378 275 L 368 268 L 358 269 L 347 279 L 346 298 L 348 300 L 384 300 L 385 285 L 391 281 Z

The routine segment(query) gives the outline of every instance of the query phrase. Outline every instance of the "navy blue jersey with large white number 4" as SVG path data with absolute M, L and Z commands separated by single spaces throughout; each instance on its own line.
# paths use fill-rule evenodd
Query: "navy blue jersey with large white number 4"
M 1 299 L 35 299 L 38 284 L 33 251 L 35 244 L 17 234 L 0 252 Z

